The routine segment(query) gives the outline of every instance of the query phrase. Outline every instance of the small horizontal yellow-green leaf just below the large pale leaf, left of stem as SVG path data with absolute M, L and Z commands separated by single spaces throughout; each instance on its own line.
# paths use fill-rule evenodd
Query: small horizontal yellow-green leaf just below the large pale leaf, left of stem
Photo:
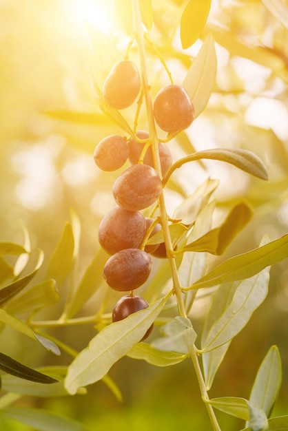
M 158 350 L 147 343 L 137 343 L 127 353 L 133 359 L 143 359 L 148 364 L 158 367 L 166 367 L 178 364 L 187 358 L 187 355 L 175 352 L 165 352 Z

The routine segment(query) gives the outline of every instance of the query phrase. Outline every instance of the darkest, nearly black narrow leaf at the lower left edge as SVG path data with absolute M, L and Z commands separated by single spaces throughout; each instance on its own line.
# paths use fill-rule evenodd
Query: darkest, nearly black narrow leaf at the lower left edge
M 8 372 L 8 374 L 19 377 L 20 379 L 37 381 L 37 383 L 50 384 L 56 383 L 57 381 L 42 372 L 33 370 L 32 368 L 15 361 L 15 359 L 12 359 L 12 357 L 8 355 L 4 355 L 4 353 L 0 353 L 0 369 Z

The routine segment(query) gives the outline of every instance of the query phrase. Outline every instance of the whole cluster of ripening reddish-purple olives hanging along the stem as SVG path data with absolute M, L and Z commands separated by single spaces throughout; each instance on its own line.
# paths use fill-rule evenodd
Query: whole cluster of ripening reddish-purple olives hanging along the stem
M 115 109 L 129 107 L 141 90 L 141 77 L 136 65 L 129 60 L 119 61 L 105 79 L 103 97 Z M 194 119 L 194 107 L 180 85 L 163 87 L 154 100 L 156 123 L 165 132 L 174 133 L 186 129 Z M 112 192 L 116 206 L 101 220 L 99 244 L 110 254 L 103 276 L 108 286 L 116 291 L 130 291 L 119 299 L 112 312 L 112 321 L 124 319 L 136 311 L 147 308 L 143 297 L 134 295 L 134 289 L 142 286 L 152 270 L 151 254 L 166 257 L 164 242 L 156 245 L 143 244 L 147 229 L 154 222 L 141 210 L 154 204 L 162 193 L 162 181 L 158 175 L 149 145 L 150 136 L 138 131 L 127 139 L 119 135 L 107 136 L 96 146 L 94 161 L 104 171 L 123 167 L 127 160 L 131 166 L 116 178 Z M 143 150 L 145 154 L 143 154 Z M 161 176 L 172 165 L 172 155 L 164 143 L 158 145 Z M 152 234 L 161 229 L 156 224 Z M 145 339 L 151 332 L 147 330 Z

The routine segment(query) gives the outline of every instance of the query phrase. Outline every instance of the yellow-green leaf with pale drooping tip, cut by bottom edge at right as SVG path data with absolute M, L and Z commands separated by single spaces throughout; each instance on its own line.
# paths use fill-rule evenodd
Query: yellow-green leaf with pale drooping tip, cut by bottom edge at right
M 209 401 L 214 408 L 231 414 L 234 417 L 249 421 L 251 431 L 267 431 L 268 421 L 265 413 L 244 398 L 223 397 L 214 398 Z

